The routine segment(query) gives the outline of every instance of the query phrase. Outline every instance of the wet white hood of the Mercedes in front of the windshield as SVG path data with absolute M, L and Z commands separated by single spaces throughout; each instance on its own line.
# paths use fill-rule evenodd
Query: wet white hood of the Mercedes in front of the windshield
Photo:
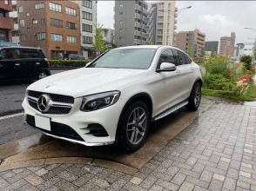
M 148 76 L 144 69 L 73 69 L 32 83 L 28 90 L 80 97 L 118 90 Z

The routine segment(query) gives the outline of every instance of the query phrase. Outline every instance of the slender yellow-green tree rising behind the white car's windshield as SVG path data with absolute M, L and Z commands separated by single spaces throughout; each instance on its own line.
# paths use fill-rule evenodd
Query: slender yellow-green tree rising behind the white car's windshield
M 94 25 L 95 27 L 95 42 L 92 43 L 92 48 L 93 50 L 98 49 L 98 54 L 103 53 L 107 48 L 104 43 L 104 36 L 102 35 L 102 27 L 103 24 L 97 23 L 97 25 Z

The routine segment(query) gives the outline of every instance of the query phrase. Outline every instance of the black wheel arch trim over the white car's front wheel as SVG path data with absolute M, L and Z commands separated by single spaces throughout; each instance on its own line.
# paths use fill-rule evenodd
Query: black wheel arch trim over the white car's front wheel
M 142 101 L 145 102 L 146 106 L 148 107 L 148 112 L 150 114 L 150 117 L 152 117 L 152 109 L 153 109 L 153 104 L 152 104 L 152 98 L 150 95 L 147 93 L 139 93 L 137 95 L 131 96 L 131 98 L 125 103 L 125 107 L 122 109 L 122 112 L 119 116 L 118 119 L 118 128 L 116 131 L 116 138 L 115 142 L 118 142 L 119 139 L 119 133 L 120 133 L 120 125 L 122 122 L 123 115 L 125 114 L 125 110 L 128 108 L 128 106 L 131 104 L 131 102 L 136 102 L 136 101 Z

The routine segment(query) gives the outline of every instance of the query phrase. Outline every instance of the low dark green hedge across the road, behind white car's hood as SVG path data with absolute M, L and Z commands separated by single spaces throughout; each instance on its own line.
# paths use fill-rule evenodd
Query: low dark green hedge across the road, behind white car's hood
M 86 63 L 90 63 L 91 59 L 87 60 L 50 60 L 50 68 L 82 68 Z

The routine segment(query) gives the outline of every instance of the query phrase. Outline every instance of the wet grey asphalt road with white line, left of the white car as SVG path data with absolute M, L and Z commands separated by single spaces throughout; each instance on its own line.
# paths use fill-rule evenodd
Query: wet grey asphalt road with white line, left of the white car
M 64 70 L 52 70 L 51 75 L 63 72 Z M 25 90 L 33 81 L 23 82 L 1 82 L 0 83 L 0 145 L 35 135 L 37 130 L 24 125 L 22 102 Z M 4 118 L 9 117 L 9 118 Z

